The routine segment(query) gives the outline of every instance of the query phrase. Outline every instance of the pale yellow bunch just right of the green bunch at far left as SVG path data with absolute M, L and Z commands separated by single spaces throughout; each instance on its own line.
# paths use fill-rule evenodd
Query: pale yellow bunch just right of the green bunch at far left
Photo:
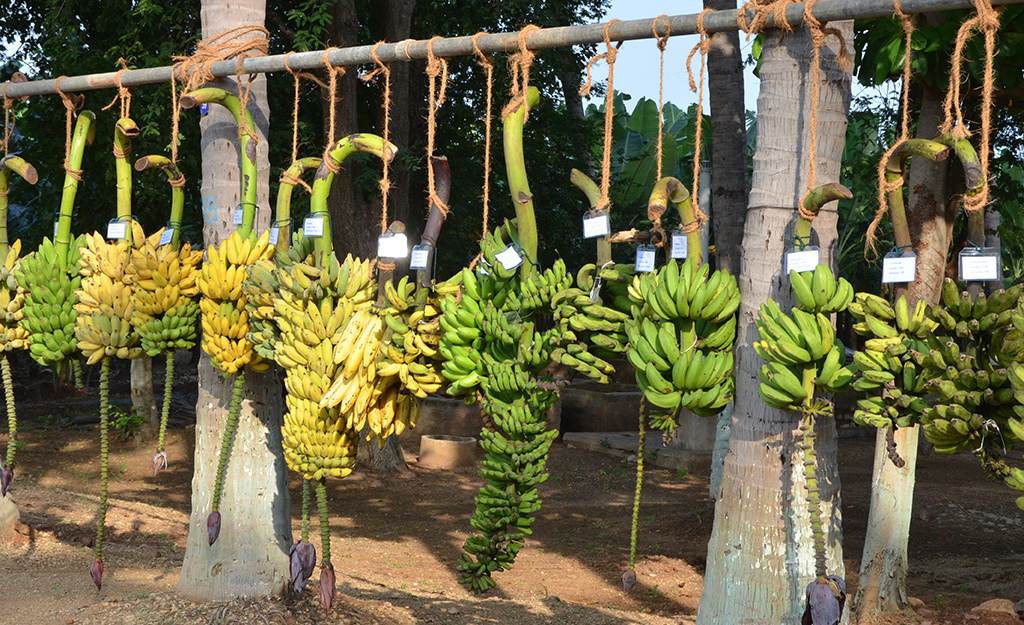
M 132 220 L 131 228 L 132 240 L 141 245 L 145 241 L 142 226 Z M 85 236 L 79 259 L 82 287 L 76 293 L 75 336 L 89 365 L 104 357 L 142 356 L 139 335 L 132 327 L 132 286 L 125 280 L 131 253 L 132 244 L 126 239 L 108 242 L 99 233 Z

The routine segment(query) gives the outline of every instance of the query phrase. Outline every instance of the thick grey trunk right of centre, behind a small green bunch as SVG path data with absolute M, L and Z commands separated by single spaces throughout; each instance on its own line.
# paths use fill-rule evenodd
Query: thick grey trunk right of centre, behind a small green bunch
M 831 26 L 852 41 L 852 23 Z M 846 136 L 851 76 L 837 62 L 837 47 L 829 38 L 822 50 L 817 184 L 839 180 Z M 739 275 L 735 409 L 708 546 L 698 625 L 796 625 L 804 611 L 804 588 L 814 573 L 804 469 L 797 447 L 799 416 L 770 409 L 758 398 L 757 371 L 762 363 L 751 346 L 757 340 L 753 321 L 761 303 L 768 297 L 783 309 L 794 303 L 782 262 L 792 246 L 796 207 L 809 170 L 812 49 L 807 30 L 781 42 L 769 34 L 762 54 L 758 148 Z M 835 205 L 814 221 L 823 262 L 834 261 L 836 221 Z M 818 420 L 816 432 L 827 569 L 842 576 L 835 421 Z

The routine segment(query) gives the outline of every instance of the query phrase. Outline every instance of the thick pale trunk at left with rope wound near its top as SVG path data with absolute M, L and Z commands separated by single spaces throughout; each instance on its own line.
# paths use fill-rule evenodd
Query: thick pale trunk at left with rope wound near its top
M 263 0 L 226 2 L 204 0 L 203 36 L 209 39 L 227 29 L 263 24 Z M 216 86 L 238 92 L 233 80 Z M 267 227 L 269 129 L 266 81 L 254 79 L 249 110 L 256 123 L 259 206 L 254 228 Z M 200 122 L 203 132 L 203 201 L 212 202 L 216 219 L 203 226 L 207 246 L 218 244 L 232 231 L 231 214 L 241 201 L 238 126 L 222 107 L 210 107 Z M 219 447 L 231 397 L 225 380 L 204 352 L 199 366 L 196 406 L 196 469 L 193 476 L 191 516 L 178 593 L 202 600 L 242 596 L 280 595 L 289 580 L 288 550 L 292 542 L 288 469 L 282 451 L 284 406 L 276 373 L 247 372 L 242 410 L 230 453 L 220 511 L 223 529 L 209 545 L 206 518 L 210 512 Z

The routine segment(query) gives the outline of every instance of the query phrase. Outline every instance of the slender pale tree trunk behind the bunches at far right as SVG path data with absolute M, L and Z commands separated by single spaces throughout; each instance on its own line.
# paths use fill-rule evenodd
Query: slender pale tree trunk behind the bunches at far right
M 942 121 L 942 93 L 925 87 L 916 136 L 934 138 Z M 924 299 L 929 304 L 939 300 L 946 273 L 946 254 L 950 244 L 949 227 L 955 210 L 948 214 L 946 174 L 949 161 L 912 159 L 906 189 L 909 190 L 907 222 L 918 254 L 918 280 L 907 289 L 910 304 Z M 872 622 L 878 613 L 896 613 L 907 607 L 907 541 L 910 537 L 910 512 L 918 470 L 918 445 L 921 428 L 901 427 L 895 432 L 896 453 L 906 461 L 897 468 L 888 460 L 886 430 L 874 439 L 877 478 L 871 485 L 871 501 L 860 558 L 857 584 L 857 621 Z

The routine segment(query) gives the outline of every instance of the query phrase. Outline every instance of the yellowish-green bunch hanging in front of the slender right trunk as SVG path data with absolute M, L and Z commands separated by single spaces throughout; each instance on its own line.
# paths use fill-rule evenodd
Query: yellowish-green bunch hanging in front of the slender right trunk
M 928 408 L 924 399 L 927 379 L 910 349 L 920 348 L 938 328 L 927 317 L 928 305 L 920 299 L 911 314 L 906 296 L 890 305 L 878 295 L 857 293 L 849 309 L 856 321 L 854 331 L 867 337 L 864 348 L 853 355 L 860 370 L 853 388 L 866 393 L 857 402 L 854 420 L 879 428 L 916 424 Z

